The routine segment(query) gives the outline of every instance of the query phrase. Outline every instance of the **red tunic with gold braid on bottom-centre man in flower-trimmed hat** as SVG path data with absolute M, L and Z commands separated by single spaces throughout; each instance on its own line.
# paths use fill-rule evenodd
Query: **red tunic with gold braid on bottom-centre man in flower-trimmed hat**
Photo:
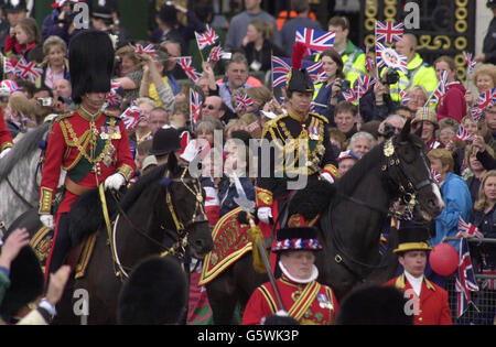
M 327 285 L 311 281 L 294 283 L 284 275 L 276 281 L 282 304 L 289 315 L 302 325 L 331 325 L 337 314 L 337 301 Z M 242 316 L 244 325 L 257 325 L 263 317 L 276 314 L 278 306 L 270 282 L 260 285 L 251 294 Z

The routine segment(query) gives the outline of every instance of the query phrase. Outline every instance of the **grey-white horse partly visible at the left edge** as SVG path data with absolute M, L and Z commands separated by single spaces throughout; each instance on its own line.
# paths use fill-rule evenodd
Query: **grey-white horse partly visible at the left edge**
M 28 131 L 0 159 L 0 221 L 6 229 L 21 214 L 37 206 L 42 171 L 40 142 L 45 141 L 50 127 L 43 123 Z

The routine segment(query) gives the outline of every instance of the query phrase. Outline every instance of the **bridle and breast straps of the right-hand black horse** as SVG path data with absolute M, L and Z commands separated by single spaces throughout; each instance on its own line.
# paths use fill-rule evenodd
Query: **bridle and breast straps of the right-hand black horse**
M 385 155 L 386 162 L 385 162 L 385 164 L 381 165 L 381 172 L 388 173 L 389 180 L 392 181 L 392 184 L 395 185 L 395 187 L 397 186 L 399 188 L 400 198 L 407 205 L 406 212 L 400 213 L 400 212 L 395 210 L 392 207 L 389 208 L 389 210 L 385 210 L 384 208 L 371 206 L 367 203 L 360 202 L 353 197 L 346 197 L 346 198 L 354 203 L 357 203 L 362 206 L 366 206 L 370 209 L 374 209 L 374 210 L 377 210 L 380 213 L 386 213 L 397 219 L 411 220 L 413 218 L 413 208 L 417 204 L 417 193 L 420 189 L 422 189 L 423 187 L 434 183 L 434 181 L 433 181 L 432 176 L 430 176 L 428 180 L 423 180 L 421 182 L 417 182 L 417 183 L 412 182 L 412 180 L 405 174 L 403 170 L 401 170 L 401 161 L 396 152 L 392 140 L 393 140 L 393 138 L 387 140 L 384 144 L 384 155 Z M 403 144 L 403 142 L 400 142 L 400 144 Z M 424 155 L 423 151 L 420 153 L 420 155 L 421 155 L 421 159 L 422 159 L 422 162 L 423 162 L 425 169 L 429 171 L 429 166 L 427 164 L 427 160 L 425 160 L 425 155 Z M 342 242 L 341 238 L 338 237 L 338 232 L 333 232 L 333 235 L 334 235 L 334 241 L 335 241 L 334 245 L 337 250 L 336 256 L 334 257 L 334 260 L 337 263 L 343 264 L 349 272 L 355 274 L 362 281 L 364 281 L 364 276 L 359 273 L 360 271 L 354 270 L 354 268 L 356 268 L 356 267 L 347 263 L 345 261 L 345 259 L 349 260 L 352 263 L 354 263 L 360 268 L 368 268 L 370 270 L 380 269 L 386 265 L 382 261 L 386 258 L 382 258 L 382 260 L 379 261 L 379 263 L 377 265 L 368 264 L 368 263 L 365 263 L 365 262 L 354 259 L 353 257 L 351 257 L 349 254 L 347 254 L 343 251 L 344 247 L 342 246 L 343 242 Z M 341 256 L 339 253 L 342 253 L 343 256 Z

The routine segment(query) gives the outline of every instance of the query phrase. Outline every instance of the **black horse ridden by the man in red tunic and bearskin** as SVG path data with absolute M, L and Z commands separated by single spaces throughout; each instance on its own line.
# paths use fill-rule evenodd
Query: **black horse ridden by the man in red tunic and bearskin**
M 91 229 L 98 231 L 86 273 L 66 288 L 54 324 L 80 324 L 86 304 L 88 324 L 115 324 L 121 284 L 140 260 L 151 254 L 184 259 L 186 252 L 202 259 L 213 248 L 205 193 L 198 180 L 175 160 L 140 177 L 114 207 L 111 194 L 105 195 L 109 214 L 117 213 L 110 232 L 103 223 L 98 189 L 73 205 L 73 243 Z M 20 217 L 10 229 L 23 226 L 31 232 L 40 229 L 35 210 Z

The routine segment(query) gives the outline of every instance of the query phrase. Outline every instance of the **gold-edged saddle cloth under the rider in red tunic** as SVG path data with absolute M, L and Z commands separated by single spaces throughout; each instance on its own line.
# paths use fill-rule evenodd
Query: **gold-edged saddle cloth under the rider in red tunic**
M 46 259 L 50 254 L 50 248 L 53 239 L 53 230 L 46 227 L 39 229 L 30 241 L 31 248 L 34 250 L 43 272 L 45 272 Z M 96 232 L 91 234 L 79 247 L 71 249 L 67 259 L 69 259 L 69 265 L 75 269 L 75 279 L 80 279 L 85 275 L 86 268 L 91 258 L 93 249 L 95 247 Z M 71 261 L 74 259 L 74 261 Z M 76 261 L 77 260 L 77 261 Z

